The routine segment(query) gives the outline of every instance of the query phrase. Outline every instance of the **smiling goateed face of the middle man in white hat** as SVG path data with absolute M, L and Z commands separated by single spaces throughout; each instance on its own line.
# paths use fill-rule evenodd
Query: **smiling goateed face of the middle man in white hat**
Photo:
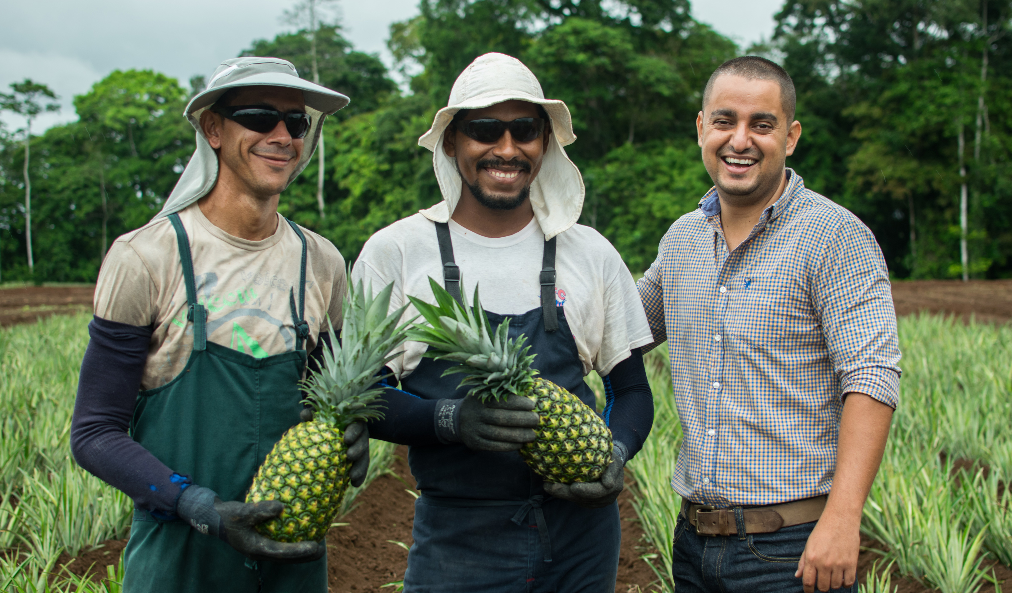
M 533 103 L 506 101 L 484 109 L 472 109 L 462 121 L 512 121 L 521 117 L 543 115 Z M 481 142 L 465 135 L 456 125 L 451 124 L 443 134 L 443 151 L 447 157 L 456 160 L 457 171 L 463 181 L 460 202 L 453 212 L 454 220 L 458 219 L 458 214 L 466 212 L 477 214 L 484 211 L 488 215 L 494 211 L 519 210 L 516 213 L 529 221 L 533 210 L 527 201 L 527 194 L 541 169 L 550 133 L 551 127 L 545 126 L 538 137 L 520 142 L 507 129 L 495 142 Z

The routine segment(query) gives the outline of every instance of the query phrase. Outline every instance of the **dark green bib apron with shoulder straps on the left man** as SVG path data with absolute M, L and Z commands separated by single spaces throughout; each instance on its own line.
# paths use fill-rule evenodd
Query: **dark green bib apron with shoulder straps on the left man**
M 290 294 L 296 349 L 256 359 L 207 341 L 207 310 L 197 302 L 189 239 L 179 216 L 169 219 L 183 265 L 193 352 L 178 377 L 141 392 L 131 434 L 166 466 L 222 500 L 244 500 L 257 468 L 281 434 L 299 423 L 303 409 L 298 382 L 309 334 L 303 320 L 306 237 L 288 221 L 303 241 L 298 309 Z M 140 509 L 134 512 L 123 566 L 125 593 L 327 591 L 326 557 L 306 564 L 254 563 L 181 519 L 161 521 Z

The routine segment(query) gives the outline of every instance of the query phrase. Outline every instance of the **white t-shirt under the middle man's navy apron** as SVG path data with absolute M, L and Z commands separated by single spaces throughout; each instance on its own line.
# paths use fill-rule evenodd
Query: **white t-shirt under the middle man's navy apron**
M 544 234 L 536 218 L 515 234 L 495 238 L 453 220 L 449 230 L 465 301 L 471 301 L 477 284 L 488 311 L 517 315 L 541 306 Z M 584 375 L 591 370 L 607 375 L 631 349 L 653 341 L 640 293 L 618 252 L 596 230 L 576 224 L 558 237 L 557 303 L 565 305 Z M 371 282 L 373 290 L 395 283 L 392 308 L 408 302 L 408 294 L 435 302 L 429 277 L 443 284 L 435 223 L 415 214 L 380 230 L 365 242 L 351 277 L 366 286 Z M 405 314 L 416 313 L 409 307 Z M 410 375 L 425 349 L 407 342 L 405 354 L 390 363 L 394 374 Z

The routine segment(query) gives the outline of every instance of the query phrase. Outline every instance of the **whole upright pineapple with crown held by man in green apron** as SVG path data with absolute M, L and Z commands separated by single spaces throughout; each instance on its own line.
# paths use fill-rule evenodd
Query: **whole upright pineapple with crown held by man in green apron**
M 277 541 L 321 539 L 348 489 L 351 462 L 344 444 L 349 424 L 382 418 L 375 399 L 383 393 L 373 386 L 377 375 L 400 353 L 391 351 L 404 341 L 411 319 L 398 325 L 407 305 L 388 314 L 394 285 L 375 297 L 362 283 L 344 301 L 342 342 L 330 329 L 332 349 L 324 348 L 319 373 L 302 382 L 314 408 L 313 420 L 289 428 L 253 477 L 246 502 L 280 500 L 284 511 L 256 526 L 262 535 Z

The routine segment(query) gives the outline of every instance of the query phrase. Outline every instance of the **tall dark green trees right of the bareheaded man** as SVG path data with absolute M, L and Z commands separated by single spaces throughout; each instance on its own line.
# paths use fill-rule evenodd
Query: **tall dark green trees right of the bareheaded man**
M 988 115 L 1008 102 L 1009 15 L 983 0 L 805 0 L 776 17 L 805 125 L 791 162 L 871 227 L 900 277 L 1012 273 L 1009 130 Z

